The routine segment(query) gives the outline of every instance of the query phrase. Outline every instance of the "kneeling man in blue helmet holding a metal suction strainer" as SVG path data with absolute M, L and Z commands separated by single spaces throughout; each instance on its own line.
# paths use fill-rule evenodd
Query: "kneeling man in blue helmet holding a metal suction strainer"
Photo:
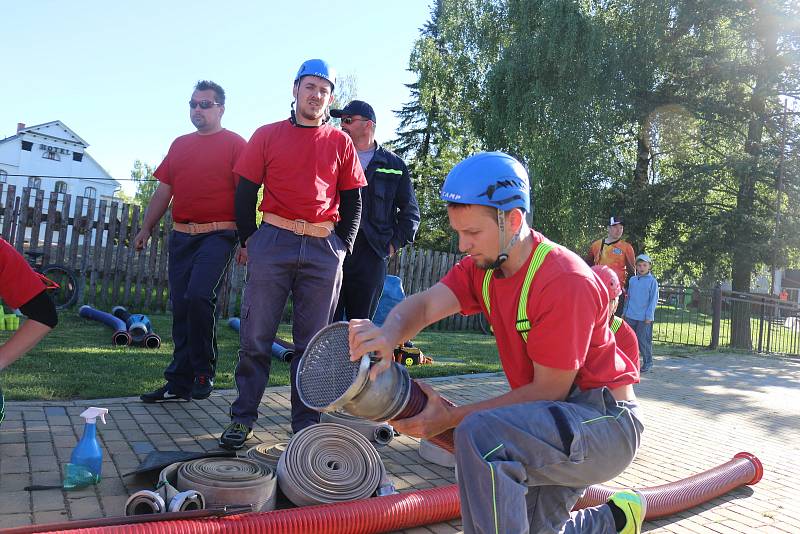
M 425 409 L 392 422 L 425 438 L 455 428 L 464 531 L 638 534 L 646 502 L 635 491 L 570 513 L 588 486 L 633 461 L 643 429 L 637 366 L 608 328 L 608 290 L 580 257 L 528 227 L 528 175 L 507 154 L 465 159 L 441 198 L 468 256 L 398 304 L 382 327 L 351 321 L 352 359 L 374 352 L 377 374 L 425 326 L 485 313 L 511 391 L 450 407 L 420 384 Z

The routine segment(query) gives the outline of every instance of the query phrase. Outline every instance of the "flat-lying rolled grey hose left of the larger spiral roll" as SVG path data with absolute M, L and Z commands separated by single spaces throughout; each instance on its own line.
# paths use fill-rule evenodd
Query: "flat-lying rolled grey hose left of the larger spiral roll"
M 275 474 L 265 464 L 247 458 L 200 458 L 183 462 L 175 487 L 203 494 L 207 506 L 252 505 L 253 510 L 275 509 Z

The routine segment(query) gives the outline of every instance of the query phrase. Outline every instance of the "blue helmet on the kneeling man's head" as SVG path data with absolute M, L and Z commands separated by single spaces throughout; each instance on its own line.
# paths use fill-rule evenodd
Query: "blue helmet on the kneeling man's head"
M 480 152 L 453 167 L 442 186 L 440 198 L 457 204 L 480 204 L 508 211 L 530 211 L 528 173 L 522 164 L 503 152 Z

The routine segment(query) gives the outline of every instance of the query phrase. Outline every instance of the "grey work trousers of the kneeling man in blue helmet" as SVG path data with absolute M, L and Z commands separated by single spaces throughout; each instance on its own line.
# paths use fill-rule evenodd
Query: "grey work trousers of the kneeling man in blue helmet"
M 607 388 L 575 388 L 563 402 L 467 416 L 455 431 L 464 532 L 615 533 L 608 506 L 570 511 L 587 487 L 633 461 L 644 428 L 638 411 Z

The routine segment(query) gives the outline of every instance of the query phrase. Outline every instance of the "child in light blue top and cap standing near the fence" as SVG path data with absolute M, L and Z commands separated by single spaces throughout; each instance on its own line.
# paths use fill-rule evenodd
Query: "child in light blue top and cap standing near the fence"
M 647 254 L 636 256 L 636 276 L 629 279 L 628 298 L 623 317 L 636 332 L 639 340 L 639 355 L 642 358 L 640 372 L 646 373 L 653 366 L 653 319 L 658 303 L 658 282 L 650 272 L 653 262 Z

